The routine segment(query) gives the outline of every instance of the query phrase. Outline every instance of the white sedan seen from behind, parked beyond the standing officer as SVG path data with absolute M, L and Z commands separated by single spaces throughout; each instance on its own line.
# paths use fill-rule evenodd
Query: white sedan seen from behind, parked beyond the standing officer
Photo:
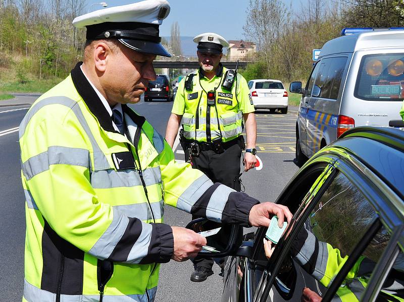
M 281 113 L 287 113 L 288 96 L 281 81 L 251 80 L 248 88 L 256 109 L 269 109 L 270 112 L 280 109 Z

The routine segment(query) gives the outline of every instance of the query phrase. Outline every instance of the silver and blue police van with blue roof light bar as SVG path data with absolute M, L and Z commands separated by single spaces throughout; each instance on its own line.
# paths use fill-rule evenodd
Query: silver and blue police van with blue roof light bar
M 356 126 L 404 127 L 404 28 L 345 28 L 324 44 L 301 93 L 296 122 L 296 163 Z M 404 129 L 404 128 L 403 128 Z

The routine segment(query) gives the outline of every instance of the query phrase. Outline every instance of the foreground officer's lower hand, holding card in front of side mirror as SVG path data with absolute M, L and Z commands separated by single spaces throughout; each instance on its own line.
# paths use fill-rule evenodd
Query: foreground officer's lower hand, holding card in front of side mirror
M 206 246 L 204 236 L 184 227 L 172 226 L 171 228 L 174 237 L 174 254 L 171 259 L 185 261 L 194 258 L 202 250 L 202 247 Z

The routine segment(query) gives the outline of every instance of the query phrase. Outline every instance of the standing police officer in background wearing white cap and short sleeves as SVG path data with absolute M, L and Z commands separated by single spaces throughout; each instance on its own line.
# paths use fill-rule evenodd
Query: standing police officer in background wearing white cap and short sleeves
M 185 159 L 213 182 L 240 191 L 238 175 L 241 148 L 244 147 L 243 125 L 247 135 L 245 171 L 257 162 L 255 109 L 247 82 L 240 74 L 232 77 L 231 71 L 229 73 L 220 63 L 223 47 L 229 46 L 222 36 L 203 33 L 193 41 L 198 44 L 196 53 L 200 68 L 179 83 L 166 140 L 173 146 L 182 120 Z M 226 80 L 231 82 L 226 83 Z M 194 265 L 192 281 L 204 281 L 213 274 L 211 259 L 195 259 Z

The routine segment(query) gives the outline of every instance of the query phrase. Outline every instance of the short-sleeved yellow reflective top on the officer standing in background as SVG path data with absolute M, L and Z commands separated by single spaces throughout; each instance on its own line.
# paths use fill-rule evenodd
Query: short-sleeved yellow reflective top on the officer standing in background
M 220 65 L 211 80 L 197 70 L 185 77 L 178 86 L 171 112 L 182 115 L 184 136 L 189 140 L 211 142 L 222 138 L 227 142 L 243 131 L 243 113 L 254 112 L 245 79 L 237 74 L 231 91 L 222 88 L 227 69 Z M 185 81 L 192 77 L 192 89 L 185 88 Z M 208 91 L 215 91 L 215 105 L 208 105 Z

